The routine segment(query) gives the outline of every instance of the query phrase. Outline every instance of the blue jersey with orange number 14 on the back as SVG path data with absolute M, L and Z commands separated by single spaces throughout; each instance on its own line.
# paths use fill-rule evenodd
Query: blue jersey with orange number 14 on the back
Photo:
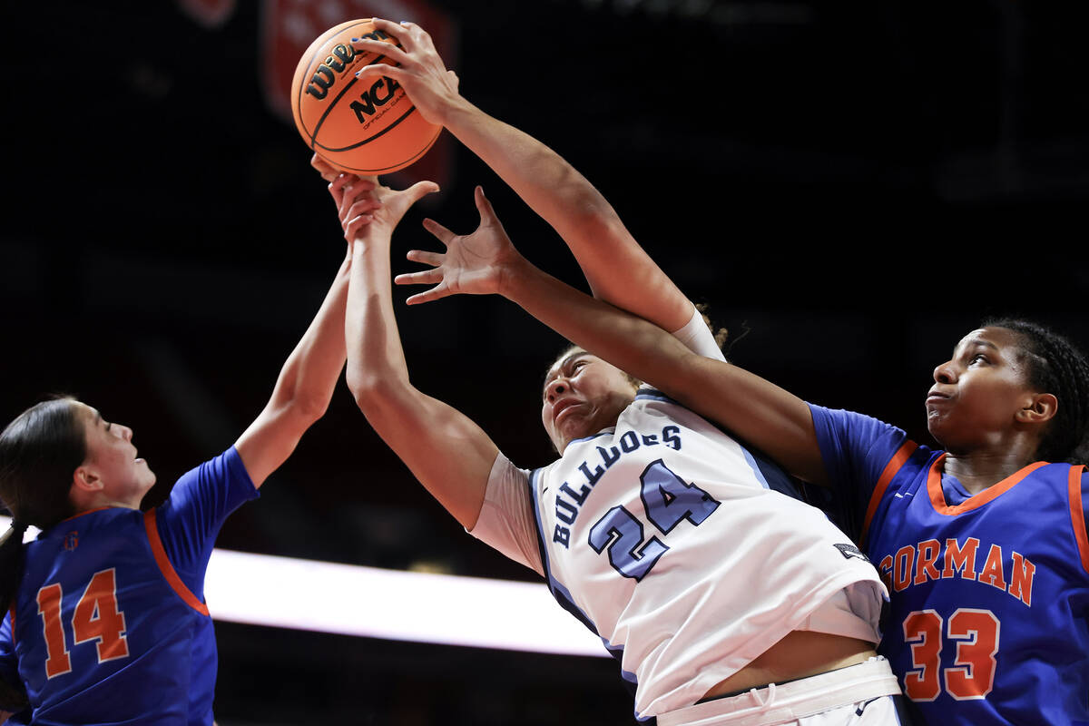
M 255 496 L 232 447 L 157 509 L 87 512 L 26 544 L 0 675 L 22 679 L 30 723 L 212 724 L 204 573 L 223 519 Z

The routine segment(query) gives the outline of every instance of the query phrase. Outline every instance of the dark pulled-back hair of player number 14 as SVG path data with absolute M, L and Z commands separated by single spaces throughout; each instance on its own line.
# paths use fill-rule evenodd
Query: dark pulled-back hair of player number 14
M 0 432 L 0 501 L 12 516 L 12 526 L 0 537 L 0 613 L 8 611 L 19 589 L 23 532 L 28 526 L 48 529 L 74 514 L 69 500 L 72 473 L 87 457 L 74 403 L 71 397 L 41 402 Z M 8 692 L 4 685 L 0 680 L 0 709 L 17 712 L 17 693 Z

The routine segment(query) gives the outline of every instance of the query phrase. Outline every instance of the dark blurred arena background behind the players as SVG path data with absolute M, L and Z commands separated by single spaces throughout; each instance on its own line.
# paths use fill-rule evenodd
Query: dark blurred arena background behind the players
M 982 318 L 1089 345 L 1084 3 L 23 0 L 0 21 L 4 421 L 77 395 L 134 429 L 155 496 L 234 441 L 344 249 L 285 87 L 313 37 L 376 14 L 441 34 L 469 100 L 585 173 L 730 357 L 809 401 L 929 441 L 931 371 Z M 396 270 L 433 242 L 423 217 L 475 229 L 482 184 L 526 256 L 585 288 L 446 132 L 384 181 L 425 175 L 442 193 L 402 223 Z M 416 385 L 516 464 L 551 460 L 539 385 L 562 341 L 499 298 L 396 295 Z M 218 546 L 538 581 L 439 507 L 343 381 Z M 634 723 L 611 659 L 289 625 L 217 622 L 220 726 Z

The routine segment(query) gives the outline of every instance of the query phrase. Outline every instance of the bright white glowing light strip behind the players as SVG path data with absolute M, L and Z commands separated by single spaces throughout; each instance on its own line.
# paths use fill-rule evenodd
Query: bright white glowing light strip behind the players
M 11 524 L 0 517 L 0 530 Z M 29 528 L 24 541 L 38 536 Z M 216 620 L 386 640 L 607 656 L 543 583 L 406 573 L 216 549 L 205 577 Z

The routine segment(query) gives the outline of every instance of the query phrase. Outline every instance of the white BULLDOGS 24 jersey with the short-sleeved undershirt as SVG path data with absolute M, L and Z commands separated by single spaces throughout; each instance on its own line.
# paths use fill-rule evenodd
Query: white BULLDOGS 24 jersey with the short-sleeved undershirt
M 686 334 L 694 350 L 719 350 L 698 313 Z M 472 533 L 544 575 L 602 638 L 640 719 L 695 703 L 791 630 L 879 640 L 888 593 L 849 538 L 646 386 L 614 428 L 550 466 L 500 454 Z

